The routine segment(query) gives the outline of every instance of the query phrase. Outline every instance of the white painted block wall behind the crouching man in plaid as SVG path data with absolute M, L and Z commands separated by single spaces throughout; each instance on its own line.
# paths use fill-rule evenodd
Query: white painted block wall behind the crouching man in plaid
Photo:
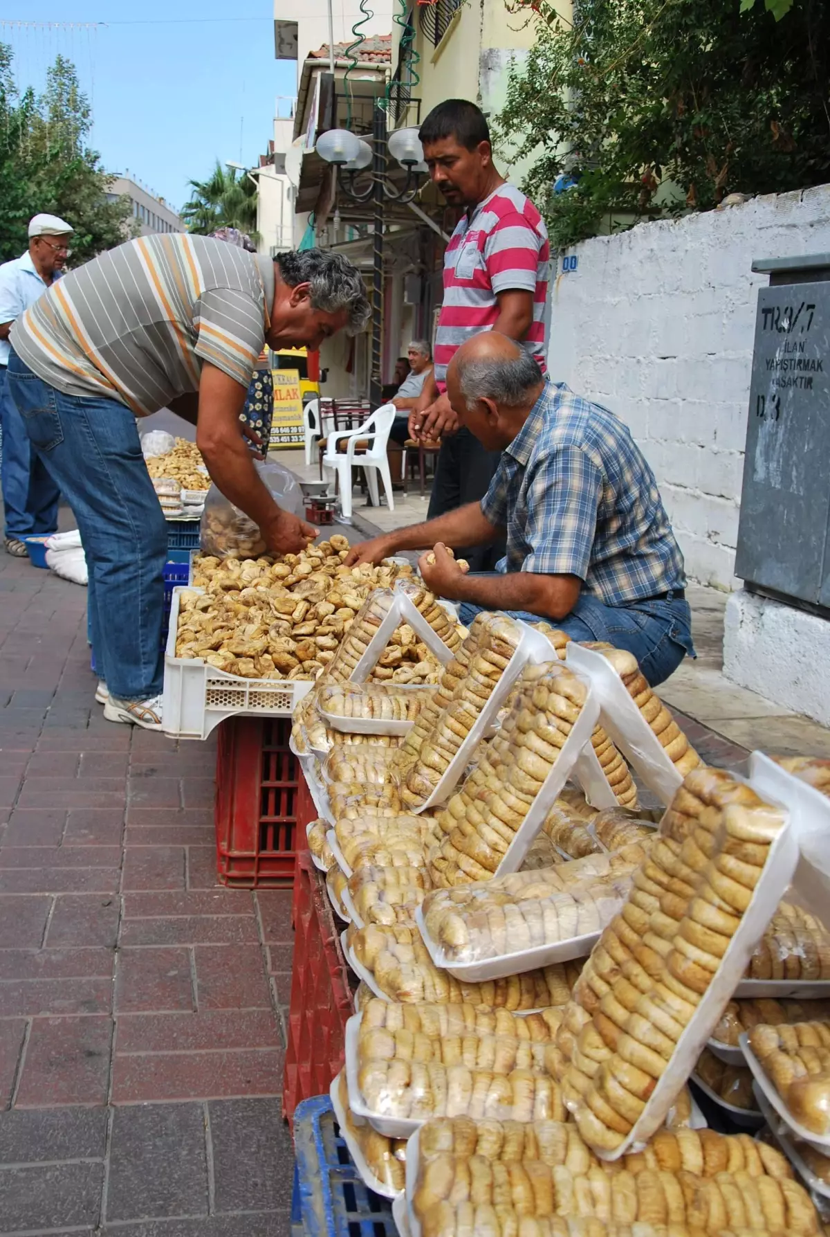
M 689 575 L 732 571 L 756 257 L 830 251 L 830 186 L 584 241 L 552 288 L 551 376 L 606 404 L 655 470 Z M 562 260 L 560 259 L 560 271 Z

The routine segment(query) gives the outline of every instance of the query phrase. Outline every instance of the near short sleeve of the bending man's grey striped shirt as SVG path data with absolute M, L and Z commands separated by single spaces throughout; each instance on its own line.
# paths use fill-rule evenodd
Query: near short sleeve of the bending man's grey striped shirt
M 209 288 L 195 304 L 195 353 L 246 390 L 266 341 L 262 306 L 238 288 Z

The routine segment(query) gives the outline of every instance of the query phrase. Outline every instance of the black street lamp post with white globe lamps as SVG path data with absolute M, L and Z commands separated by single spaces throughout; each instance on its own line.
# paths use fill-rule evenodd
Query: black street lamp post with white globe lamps
M 320 158 L 335 167 L 335 176 L 343 172 L 343 193 L 356 203 L 372 203 L 372 359 L 369 370 L 369 401 L 377 408 L 383 398 L 383 231 L 387 202 L 413 202 L 419 189 L 417 174 L 426 171 L 424 151 L 416 129 L 396 130 L 385 142 L 387 114 L 375 104 L 372 118 L 372 147 L 347 129 L 330 129 L 317 139 Z M 387 179 L 387 148 L 406 169 L 403 188 L 395 189 Z M 354 188 L 354 173 L 372 163 L 368 188 Z

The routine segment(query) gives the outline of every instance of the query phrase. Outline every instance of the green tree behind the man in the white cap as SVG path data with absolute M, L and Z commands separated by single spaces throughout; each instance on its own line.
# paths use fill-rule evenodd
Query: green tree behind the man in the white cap
M 107 200 L 111 177 L 86 146 L 91 114 L 73 63 L 58 56 L 41 95 L 19 92 L 11 66 L 0 43 L 0 261 L 23 252 L 28 220 L 48 212 L 75 229 L 78 266 L 130 235 L 130 199 Z

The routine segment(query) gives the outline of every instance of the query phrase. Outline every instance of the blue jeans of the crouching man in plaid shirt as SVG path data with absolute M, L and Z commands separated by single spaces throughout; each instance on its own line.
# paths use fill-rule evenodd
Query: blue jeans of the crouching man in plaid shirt
M 494 571 L 484 573 L 495 575 Z M 483 606 L 463 602 L 459 617 L 466 627 L 471 625 Z M 521 610 L 508 610 L 514 618 L 539 622 L 539 615 Z M 640 669 L 651 687 L 663 683 L 673 674 L 683 658 L 694 657 L 692 643 L 692 611 L 684 597 L 671 601 L 636 601 L 625 606 L 603 605 L 593 594 L 581 593 L 579 600 L 567 618 L 548 618 L 571 640 L 606 641 L 615 648 L 634 653 Z

